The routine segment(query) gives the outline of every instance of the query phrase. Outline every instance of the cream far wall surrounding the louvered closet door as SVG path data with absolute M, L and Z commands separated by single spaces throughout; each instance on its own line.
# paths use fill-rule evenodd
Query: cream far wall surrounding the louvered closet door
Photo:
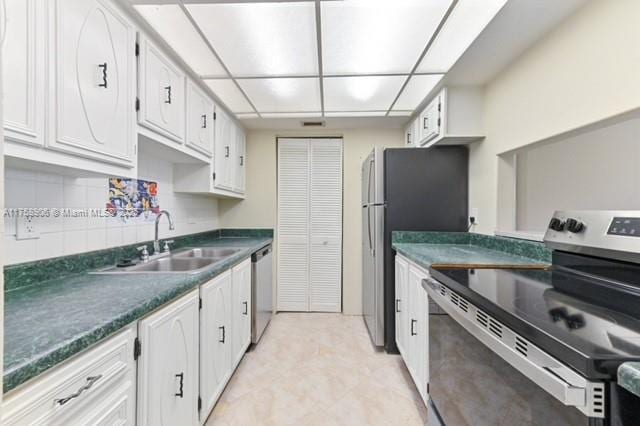
M 360 170 L 374 146 L 402 146 L 401 129 L 252 130 L 247 134 L 247 199 L 221 200 L 224 228 L 274 228 L 277 223 L 276 138 L 338 136 L 344 140 L 343 163 L 343 312 L 362 313 L 362 218 Z M 277 234 L 276 234 L 277 236 Z

